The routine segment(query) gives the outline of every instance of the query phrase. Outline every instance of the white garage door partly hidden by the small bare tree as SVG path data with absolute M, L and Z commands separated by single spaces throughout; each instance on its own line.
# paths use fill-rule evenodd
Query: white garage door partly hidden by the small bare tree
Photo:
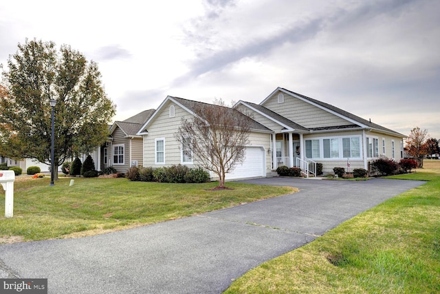
M 245 160 L 241 165 L 226 174 L 226 180 L 239 178 L 256 178 L 265 176 L 264 149 L 261 147 L 246 147 Z

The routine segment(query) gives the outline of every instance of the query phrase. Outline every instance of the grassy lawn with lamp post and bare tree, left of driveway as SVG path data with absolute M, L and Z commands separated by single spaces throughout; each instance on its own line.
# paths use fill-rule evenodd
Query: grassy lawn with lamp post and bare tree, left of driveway
M 4 218 L 0 193 L 0 243 L 93 235 L 192 216 L 294 191 L 228 182 L 231 190 L 208 191 L 218 183 L 167 184 L 125 178 L 60 178 L 14 182 L 14 217 Z

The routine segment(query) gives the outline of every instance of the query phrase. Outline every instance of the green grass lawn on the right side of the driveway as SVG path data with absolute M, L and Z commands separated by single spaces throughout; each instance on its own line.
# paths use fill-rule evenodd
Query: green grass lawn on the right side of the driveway
M 440 293 L 440 161 L 429 180 L 252 269 L 225 293 Z

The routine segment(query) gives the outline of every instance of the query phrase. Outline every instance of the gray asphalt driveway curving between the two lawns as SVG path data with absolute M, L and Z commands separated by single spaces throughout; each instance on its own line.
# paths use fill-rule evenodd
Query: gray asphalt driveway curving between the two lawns
M 47 278 L 49 293 L 221 293 L 232 280 L 424 182 L 246 180 L 298 193 L 136 229 L 0 245 L 0 277 Z

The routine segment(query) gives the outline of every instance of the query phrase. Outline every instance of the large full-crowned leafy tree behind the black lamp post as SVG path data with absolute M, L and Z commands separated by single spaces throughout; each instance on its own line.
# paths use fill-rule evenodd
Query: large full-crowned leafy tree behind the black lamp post
M 55 107 L 55 178 L 67 158 L 89 152 L 107 137 L 115 105 L 104 92 L 98 65 L 68 45 L 53 42 L 18 45 L 3 72 L 0 92 L 1 152 L 51 165 L 51 107 Z

